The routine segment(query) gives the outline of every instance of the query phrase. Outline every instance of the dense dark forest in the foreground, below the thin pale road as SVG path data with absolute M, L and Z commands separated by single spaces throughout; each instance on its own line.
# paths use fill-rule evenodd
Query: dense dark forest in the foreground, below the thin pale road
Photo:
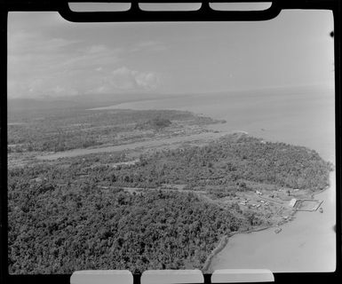
M 29 196 L 29 197 L 28 197 Z M 9 212 L 10 272 L 200 268 L 246 222 L 194 193 L 32 188 Z M 53 197 L 53 198 L 52 198 Z

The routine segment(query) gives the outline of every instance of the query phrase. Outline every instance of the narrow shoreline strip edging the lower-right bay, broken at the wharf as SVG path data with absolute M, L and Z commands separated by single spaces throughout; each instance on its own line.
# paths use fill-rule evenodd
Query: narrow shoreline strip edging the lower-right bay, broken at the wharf
M 320 193 L 324 193 L 324 192 L 327 192 L 328 189 L 331 188 L 331 186 L 333 185 L 333 183 L 331 183 L 331 179 L 333 177 L 335 177 L 336 174 L 336 169 L 334 168 L 333 170 L 330 171 L 330 174 L 329 174 L 329 185 L 325 186 L 325 188 L 323 188 L 321 191 L 319 192 L 316 192 L 316 193 L 312 193 L 311 194 L 311 198 L 314 199 L 314 197 L 317 195 L 317 194 L 320 194 Z M 324 200 L 323 200 L 324 201 Z M 321 205 L 322 206 L 322 205 Z M 320 206 L 320 207 L 321 207 Z M 317 208 L 318 210 L 318 208 Z M 271 228 L 274 228 L 274 227 L 279 227 L 280 225 L 285 225 L 285 224 L 289 224 L 292 223 L 292 221 L 294 220 L 294 216 L 296 215 L 296 213 L 298 213 L 300 211 L 298 211 L 297 209 L 294 209 L 291 213 L 290 213 L 290 218 L 288 220 L 284 220 L 282 221 L 281 224 L 274 224 L 274 225 L 266 225 L 266 226 L 261 226 L 261 227 L 258 227 L 258 228 L 253 228 L 251 230 L 247 230 L 247 231 L 236 231 L 236 232 L 233 232 L 233 233 L 228 233 L 224 236 L 222 236 L 221 238 L 221 241 L 219 241 L 219 245 L 214 248 L 212 251 L 211 251 L 211 254 L 207 257 L 205 263 L 203 264 L 203 267 L 202 267 L 202 272 L 204 273 L 212 273 L 215 269 L 212 269 L 211 268 L 211 264 L 212 264 L 212 261 L 213 259 L 215 258 L 215 256 L 218 256 L 219 253 L 224 250 L 225 248 L 227 248 L 227 245 L 229 244 L 229 241 L 231 239 L 231 237 L 235 236 L 235 235 L 238 235 L 238 234 L 242 234 L 242 235 L 246 235 L 246 234 L 251 234 L 251 233 L 257 233 L 257 232 L 261 232 L 261 231 L 265 231 L 267 229 L 271 229 Z

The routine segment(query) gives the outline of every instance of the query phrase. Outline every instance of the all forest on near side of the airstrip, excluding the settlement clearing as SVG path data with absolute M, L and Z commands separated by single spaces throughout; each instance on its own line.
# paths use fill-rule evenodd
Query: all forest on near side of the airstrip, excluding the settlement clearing
M 222 208 L 198 188 L 219 196 L 251 190 L 252 181 L 316 191 L 331 170 L 306 147 L 242 133 L 122 163 L 130 159 L 91 154 L 9 170 L 10 272 L 201 268 L 223 235 L 265 218 L 237 203 Z M 166 192 L 165 184 L 186 187 Z

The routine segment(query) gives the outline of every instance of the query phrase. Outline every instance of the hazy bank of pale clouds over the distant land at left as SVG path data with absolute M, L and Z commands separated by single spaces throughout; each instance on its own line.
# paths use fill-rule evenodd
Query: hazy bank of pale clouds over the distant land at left
M 9 35 L 10 98 L 150 91 L 160 83 L 155 71 L 125 64 L 131 50 L 157 48 L 156 43 L 138 43 L 125 49 L 38 32 L 14 31 Z

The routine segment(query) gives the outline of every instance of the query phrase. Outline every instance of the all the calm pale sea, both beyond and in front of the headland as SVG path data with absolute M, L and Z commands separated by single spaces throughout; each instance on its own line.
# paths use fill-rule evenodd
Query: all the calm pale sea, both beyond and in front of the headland
M 316 150 L 335 164 L 334 91 L 274 89 L 175 96 L 124 103 L 106 108 L 179 109 L 204 114 L 227 123 L 212 126 L 222 131 L 244 130 L 251 136 Z M 330 188 L 316 195 L 323 213 L 298 212 L 296 219 L 274 229 L 237 234 L 211 263 L 223 268 L 266 268 L 273 272 L 334 271 L 336 233 L 335 174 Z

